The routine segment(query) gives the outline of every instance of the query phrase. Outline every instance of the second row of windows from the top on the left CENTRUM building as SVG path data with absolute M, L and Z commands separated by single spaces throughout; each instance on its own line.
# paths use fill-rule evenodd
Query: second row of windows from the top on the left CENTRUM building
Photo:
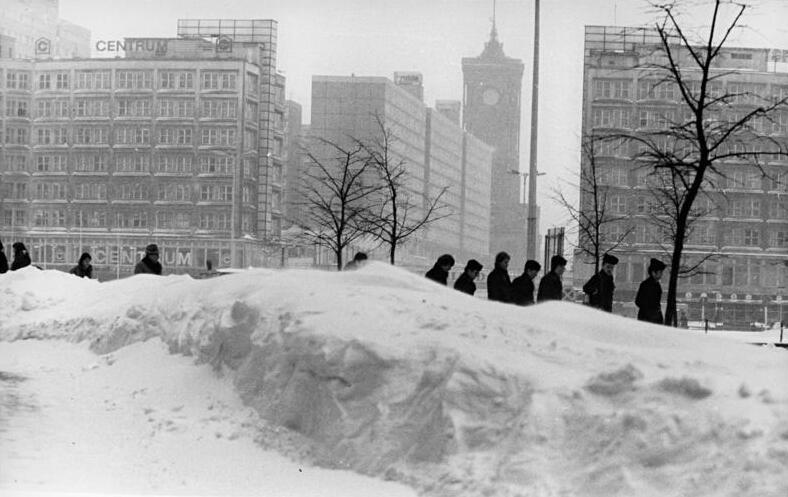
M 236 119 L 238 102 L 229 98 L 201 99 L 200 112 L 196 113 L 194 99 L 162 99 L 158 101 L 158 113 L 154 116 L 153 100 L 142 98 L 119 98 L 115 100 L 114 115 L 110 116 L 110 100 L 78 98 L 71 105 L 67 99 L 38 99 L 36 113 L 31 116 L 27 100 L 6 99 L 6 117 L 70 118 L 74 117 L 197 117 L 212 119 Z M 257 104 L 247 102 L 247 111 L 253 117 Z M 281 123 L 280 128 L 281 128 Z

